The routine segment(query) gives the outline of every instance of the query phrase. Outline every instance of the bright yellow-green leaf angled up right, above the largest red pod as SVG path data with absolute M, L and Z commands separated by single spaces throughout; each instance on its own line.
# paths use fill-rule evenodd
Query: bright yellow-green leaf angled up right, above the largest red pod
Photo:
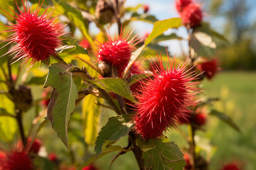
M 147 39 L 145 40 L 145 46 L 148 45 L 155 37 L 162 35 L 164 31 L 169 28 L 177 28 L 181 24 L 180 18 L 170 18 L 166 20 L 159 20 L 154 23 L 154 28 L 150 35 L 148 35 Z

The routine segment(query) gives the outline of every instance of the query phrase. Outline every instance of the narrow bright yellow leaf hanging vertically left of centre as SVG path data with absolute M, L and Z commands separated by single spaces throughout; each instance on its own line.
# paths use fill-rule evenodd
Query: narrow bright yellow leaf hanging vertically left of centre
M 95 143 L 99 130 L 100 106 L 95 103 L 96 99 L 94 95 L 87 95 L 82 101 L 82 125 L 87 145 Z

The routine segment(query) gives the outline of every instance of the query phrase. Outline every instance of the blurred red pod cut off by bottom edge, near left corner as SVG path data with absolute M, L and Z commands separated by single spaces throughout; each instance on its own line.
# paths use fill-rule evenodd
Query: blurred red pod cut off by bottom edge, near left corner
M 8 170 L 32 170 L 32 160 L 26 152 L 11 152 L 5 159 L 3 169 Z

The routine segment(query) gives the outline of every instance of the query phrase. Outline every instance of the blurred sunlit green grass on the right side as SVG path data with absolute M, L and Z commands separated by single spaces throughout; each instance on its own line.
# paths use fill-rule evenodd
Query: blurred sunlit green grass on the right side
M 212 81 L 204 81 L 207 97 L 220 97 L 213 107 L 228 114 L 240 127 L 241 133 L 216 118 L 210 117 L 210 142 L 216 146 L 210 169 L 235 161 L 244 169 L 256 169 L 256 72 L 225 71 Z M 214 122 L 215 121 L 215 122 Z

